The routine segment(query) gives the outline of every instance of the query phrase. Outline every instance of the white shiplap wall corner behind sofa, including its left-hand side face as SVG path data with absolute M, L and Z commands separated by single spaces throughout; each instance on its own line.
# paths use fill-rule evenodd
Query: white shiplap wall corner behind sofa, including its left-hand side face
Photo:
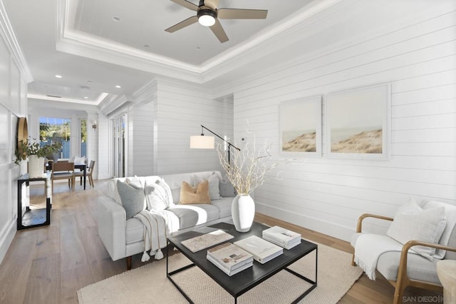
M 148 91 L 147 96 L 138 97 L 128 111 L 133 121 L 129 141 L 134 147 L 130 175 L 221 170 L 217 151 L 190 149 L 190 136 L 199 135 L 204 125 L 232 138 L 232 98 L 214 100 L 202 86 L 163 79 L 141 90 Z

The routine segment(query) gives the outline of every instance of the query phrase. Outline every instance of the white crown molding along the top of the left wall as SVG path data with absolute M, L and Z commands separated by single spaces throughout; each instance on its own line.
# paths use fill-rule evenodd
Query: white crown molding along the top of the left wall
M 3 37 L 10 54 L 14 57 L 14 62 L 21 72 L 22 78 L 26 83 L 31 83 L 33 81 L 33 76 L 31 75 L 30 69 L 28 69 L 26 58 L 22 53 L 19 41 L 16 39 L 16 34 L 14 34 L 13 26 L 11 26 L 2 0 L 0 0 L 0 30 L 1 37 Z

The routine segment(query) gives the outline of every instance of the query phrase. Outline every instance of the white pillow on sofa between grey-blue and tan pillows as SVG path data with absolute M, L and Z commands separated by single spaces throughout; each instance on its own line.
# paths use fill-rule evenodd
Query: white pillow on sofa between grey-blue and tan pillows
M 170 186 L 163 178 L 157 179 L 155 183 L 146 181 L 144 193 L 148 210 L 160 211 L 174 205 Z

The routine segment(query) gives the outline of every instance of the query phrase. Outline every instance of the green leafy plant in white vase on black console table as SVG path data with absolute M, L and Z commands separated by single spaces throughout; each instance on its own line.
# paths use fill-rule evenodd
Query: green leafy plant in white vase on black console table
M 21 161 L 28 159 L 28 176 L 30 178 L 41 178 L 44 172 L 44 158 L 52 156 L 53 153 L 60 151 L 61 148 L 62 143 L 60 141 L 53 141 L 45 146 L 41 146 L 36 141 L 19 141 L 14 163 L 19 165 Z

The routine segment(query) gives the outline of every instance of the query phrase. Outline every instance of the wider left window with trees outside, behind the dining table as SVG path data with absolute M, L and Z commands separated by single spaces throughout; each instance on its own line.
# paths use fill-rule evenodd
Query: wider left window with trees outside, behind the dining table
M 61 151 L 46 156 L 56 161 L 58 158 L 70 158 L 71 154 L 71 119 L 40 117 L 40 145 L 50 145 L 55 141 L 62 143 Z

